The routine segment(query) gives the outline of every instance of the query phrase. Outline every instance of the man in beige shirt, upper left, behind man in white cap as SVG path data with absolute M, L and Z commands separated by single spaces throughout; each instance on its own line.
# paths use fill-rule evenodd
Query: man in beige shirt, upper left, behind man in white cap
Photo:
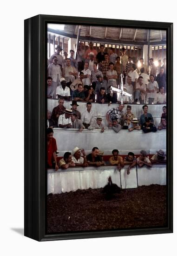
M 68 87 L 72 84 L 75 79 L 75 76 L 78 75 L 78 71 L 75 67 L 72 67 L 71 60 L 67 58 L 66 67 L 63 68 L 63 77 L 66 79 L 66 84 Z

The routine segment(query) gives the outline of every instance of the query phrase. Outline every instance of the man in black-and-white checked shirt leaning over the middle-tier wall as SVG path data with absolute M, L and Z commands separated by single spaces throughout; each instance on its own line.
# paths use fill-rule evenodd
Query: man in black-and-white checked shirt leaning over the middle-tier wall
M 111 108 L 107 113 L 106 113 L 106 120 L 108 122 L 108 126 L 112 126 L 112 121 L 111 119 L 116 117 L 118 119 L 118 123 L 120 125 L 123 125 L 124 123 L 124 113 L 123 113 L 123 108 L 125 107 L 124 104 L 119 104 L 117 108 Z

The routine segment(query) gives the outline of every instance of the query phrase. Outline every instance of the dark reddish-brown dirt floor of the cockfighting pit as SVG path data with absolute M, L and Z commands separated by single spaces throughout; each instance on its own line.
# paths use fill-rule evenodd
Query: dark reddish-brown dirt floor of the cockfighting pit
M 47 233 L 166 225 L 166 186 L 123 189 L 111 200 L 103 189 L 47 196 Z

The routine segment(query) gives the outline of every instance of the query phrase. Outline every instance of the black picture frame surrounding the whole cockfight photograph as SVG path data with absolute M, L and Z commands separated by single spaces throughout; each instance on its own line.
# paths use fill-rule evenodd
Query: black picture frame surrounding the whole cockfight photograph
M 46 234 L 46 26 L 47 23 L 163 29 L 167 32 L 167 124 L 173 123 L 173 23 L 37 15 L 25 20 L 25 236 L 37 241 L 173 232 L 173 128 L 167 127 L 167 216 L 162 228 Z

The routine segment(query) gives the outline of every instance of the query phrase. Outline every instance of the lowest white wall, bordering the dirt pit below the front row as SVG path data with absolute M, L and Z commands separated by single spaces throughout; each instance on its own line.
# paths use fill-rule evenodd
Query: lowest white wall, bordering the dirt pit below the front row
M 122 189 L 134 189 L 142 185 L 166 185 L 166 166 L 153 165 L 152 168 L 131 168 L 127 175 L 128 166 L 119 173 L 116 167 L 85 167 L 47 170 L 47 195 L 76 191 L 77 189 L 103 188 L 111 175 L 112 182 Z M 137 183 L 138 180 L 138 183 Z

